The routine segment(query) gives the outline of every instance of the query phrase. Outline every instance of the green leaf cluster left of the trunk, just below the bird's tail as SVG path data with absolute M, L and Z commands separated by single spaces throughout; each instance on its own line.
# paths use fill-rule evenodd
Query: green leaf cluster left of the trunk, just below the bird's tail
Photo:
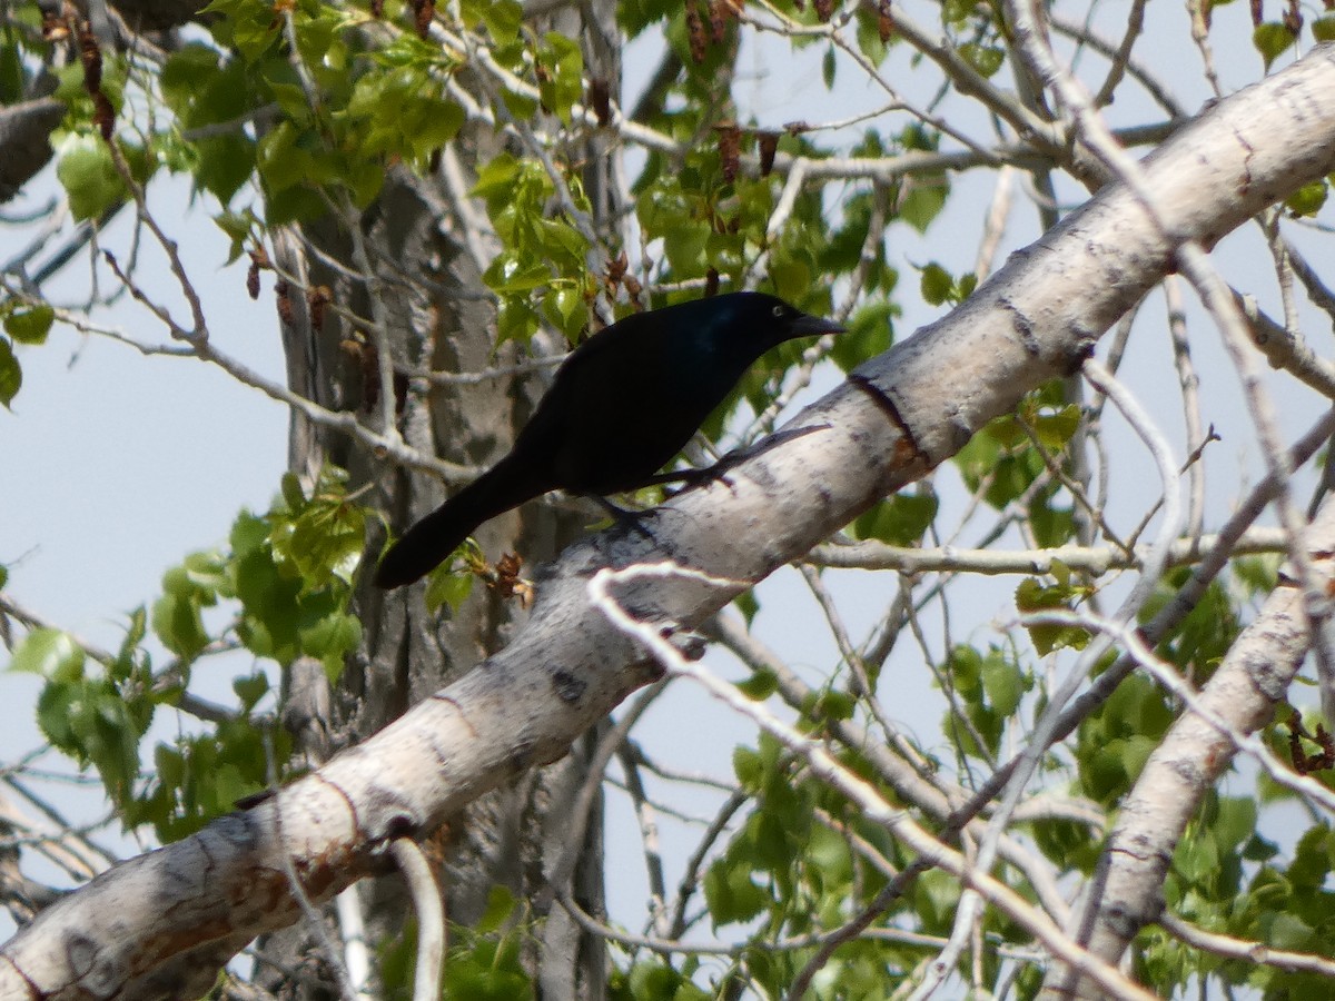
M 332 471 L 311 496 L 288 476 L 270 511 L 238 517 L 228 550 L 192 554 L 163 575 L 162 597 L 151 614 L 131 614 L 111 661 L 89 665 L 77 642 L 53 629 L 31 631 L 15 649 L 11 670 L 44 679 L 43 734 L 97 771 L 127 829 L 147 823 L 164 841 L 184 837 L 282 775 L 291 738 L 271 711 L 259 711 L 270 694 L 262 671 L 234 679 L 236 707 L 203 733 L 148 746 L 150 723 L 187 695 L 203 661 L 238 646 L 279 666 L 312 657 L 336 679 L 360 642 L 347 603 L 363 518 Z M 211 613 L 227 606 L 234 617 L 219 629 Z M 159 669 L 146 645 L 150 629 L 172 654 Z

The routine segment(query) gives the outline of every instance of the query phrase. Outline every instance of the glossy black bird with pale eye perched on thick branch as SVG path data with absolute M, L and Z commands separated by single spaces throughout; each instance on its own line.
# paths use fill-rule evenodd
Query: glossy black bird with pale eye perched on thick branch
M 639 312 L 577 347 L 514 448 L 390 547 L 380 587 L 411 583 L 483 522 L 549 490 L 638 490 L 776 344 L 844 328 L 762 292 Z

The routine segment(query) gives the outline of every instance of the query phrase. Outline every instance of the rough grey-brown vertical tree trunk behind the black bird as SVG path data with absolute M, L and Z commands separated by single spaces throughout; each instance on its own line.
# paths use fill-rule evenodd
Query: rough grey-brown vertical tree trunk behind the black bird
M 598 3 L 581 11 L 582 16 L 565 11 L 561 17 L 569 23 L 550 29 L 582 39 L 590 72 L 615 88 L 619 41 L 614 7 Z M 585 16 L 598 20 L 585 23 Z M 316 298 L 327 290 L 332 303 L 380 326 L 396 366 L 391 383 L 396 392 L 406 390 L 391 408 L 405 440 L 422 454 L 477 470 L 509 451 L 551 371 L 475 382 L 425 378 L 427 371 L 470 374 L 521 360 L 513 343 L 495 350 L 495 306 L 482 270 L 499 247 L 489 231 L 485 207 L 467 198 L 475 165 L 499 152 L 498 141 L 490 132 L 466 129 L 443 151 L 441 167 L 431 176 L 394 171 L 376 203 L 356 220 L 359 239 L 330 218 L 287 231 L 275 248 L 279 271 L 292 279 L 286 310 L 292 323 L 283 324 L 291 387 L 331 410 L 355 410 L 360 419 L 380 426 L 376 331 L 352 324 L 334 310 L 324 310 L 323 318 L 312 316 L 319 307 L 312 310 L 310 296 L 300 290 L 314 290 Z M 589 165 L 583 180 L 601 235 L 614 244 L 607 227 L 618 218 L 613 194 L 618 188 L 611 183 L 613 164 L 605 145 L 597 133 L 586 143 L 582 159 Z M 363 279 L 367 260 L 370 282 Z M 315 319 L 323 322 L 316 326 Z M 563 344 L 534 347 L 542 354 L 565 350 Z M 387 513 L 395 531 L 461 486 L 451 482 L 442 487 L 430 474 L 399 467 L 294 414 L 290 467 L 310 484 L 324 463 L 346 468 L 354 488 L 374 484 L 370 499 Z M 583 521 L 578 514 L 533 503 L 479 527 L 477 538 L 490 562 L 505 553 L 523 553 L 526 565 L 535 565 L 555 557 Z M 374 565 L 378 554 L 372 545 L 367 561 Z M 363 647 L 339 679 L 335 718 L 328 721 L 336 747 L 363 741 L 410 706 L 458 681 L 502 649 L 525 618 L 517 599 L 498 598 L 481 582 L 454 611 L 431 613 L 423 603 L 425 585 L 387 594 L 371 586 L 368 577 L 363 577 L 358 609 Z M 290 681 L 288 689 L 287 701 L 303 699 L 302 693 L 291 690 Z M 565 910 L 551 906 L 551 893 L 545 893 L 551 866 L 578 848 L 573 893 L 589 913 L 603 912 L 601 795 L 593 798 L 589 815 L 570 815 L 578 799 L 575 791 L 587 779 L 586 761 L 594 739 L 590 734 L 561 761 L 469 803 L 446 821 L 434 842 L 451 922 L 475 924 L 487 909 L 493 888 L 505 888 L 521 905 L 527 902 L 527 910 L 521 908 L 517 917 L 543 922 L 541 933 L 526 938 L 525 954 L 546 997 L 598 998 L 605 988 L 602 944 L 581 933 Z M 570 831 L 579 830 L 585 837 L 571 846 Z M 403 917 L 411 913 L 400 880 L 382 880 L 356 900 L 367 909 L 366 924 L 376 941 L 399 934 Z M 538 906 L 538 901 L 546 904 Z M 295 926 L 270 936 L 264 952 L 278 960 L 271 970 L 292 969 L 303 956 L 314 954 L 308 929 Z M 276 972 L 263 977 L 271 990 L 286 980 Z

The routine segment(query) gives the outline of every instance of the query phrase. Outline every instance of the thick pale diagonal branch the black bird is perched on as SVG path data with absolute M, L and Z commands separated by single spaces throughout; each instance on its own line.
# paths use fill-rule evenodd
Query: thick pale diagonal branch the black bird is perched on
M 673 559 L 733 587 L 654 582 L 618 595 L 692 626 L 869 505 L 952 455 L 989 418 L 1072 372 L 1172 266 L 1335 170 L 1335 48 L 1220 101 L 1145 160 L 1157 223 L 1120 186 L 1016 254 L 961 308 L 862 366 L 784 438 L 669 503 L 657 545 L 630 531 L 579 543 L 539 582 L 531 621 L 471 674 L 267 801 L 117 866 L 0 949 L 0 997 L 176 996 L 155 970 L 295 920 L 284 857 L 322 901 L 518 771 L 559 758 L 653 677 L 591 607 L 602 566 Z M 904 426 L 910 431 L 905 434 Z

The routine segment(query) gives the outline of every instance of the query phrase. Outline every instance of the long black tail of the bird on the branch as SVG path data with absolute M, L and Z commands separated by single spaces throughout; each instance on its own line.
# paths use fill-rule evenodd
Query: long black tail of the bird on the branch
M 380 559 L 375 570 L 376 586 L 402 587 L 425 577 L 449 559 L 482 522 L 542 492 L 527 488 L 514 474 L 515 470 L 502 459 L 409 529 Z

